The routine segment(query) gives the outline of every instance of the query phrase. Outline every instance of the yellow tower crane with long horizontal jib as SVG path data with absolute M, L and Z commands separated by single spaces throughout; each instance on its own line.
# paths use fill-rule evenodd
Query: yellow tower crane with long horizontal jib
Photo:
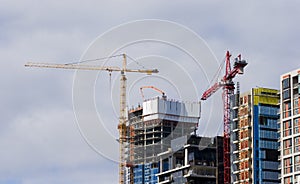
M 97 66 L 97 65 L 83 65 L 83 64 L 50 64 L 50 63 L 32 63 L 28 62 L 25 64 L 25 67 L 41 67 L 41 68 L 61 68 L 61 69 L 79 69 L 79 70 L 102 70 L 107 72 L 121 72 L 120 77 L 120 117 L 119 117 L 119 183 L 124 184 L 124 167 L 125 163 L 125 148 L 124 143 L 128 140 L 126 137 L 126 72 L 135 72 L 135 73 L 145 73 L 151 75 L 153 73 L 158 73 L 157 69 L 145 70 L 145 69 L 128 69 L 126 54 L 122 54 L 123 63 L 122 68 L 117 66 Z

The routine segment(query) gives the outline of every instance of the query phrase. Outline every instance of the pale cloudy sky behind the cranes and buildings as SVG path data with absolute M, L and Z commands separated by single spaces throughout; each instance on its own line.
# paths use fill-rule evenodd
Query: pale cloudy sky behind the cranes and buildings
M 160 70 L 159 75 L 149 78 L 128 76 L 129 107 L 142 101 L 139 87 L 152 83 L 164 88 L 170 98 L 199 100 L 227 50 L 233 56 L 241 53 L 249 63 L 245 74 L 235 80 L 240 82 L 242 92 L 252 87 L 278 89 L 279 76 L 300 67 L 300 2 L 296 0 L 0 2 L 0 184 L 118 181 L 118 164 L 112 160 L 118 155 L 119 75 L 113 73 L 109 82 L 107 73 L 92 73 L 99 95 L 87 99 L 94 99 L 97 116 L 107 122 L 104 129 L 97 129 L 88 127 L 87 119 L 80 120 L 80 113 L 88 117 L 91 112 L 81 106 L 85 96 L 76 96 L 87 91 L 76 85 L 78 81 L 84 84 L 85 78 L 78 78 L 82 73 L 25 68 L 27 61 L 70 63 L 106 57 L 97 49 L 109 48 L 146 28 L 158 36 L 163 29 L 131 27 L 131 31 L 101 42 L 103 35 L 128 22 L 151 19 L 171 22 L 197 34 L 211 51 L 211 60 L 201 60 L 200 64 L 213 65 L 206 69 L 206 78 L 205 72 L 194 68 L 191 58 L 174 46 L 150 41 L 119 48 L 116 54 L 125 51 L 140 65 Z M 165 36 L 176 38 L 175 31 L 168 33 Z M 194 41 L 188 35 L 182 44 Z M 119 59 L 107 64 L 118 63 Z M 131 61 L 129 66 L 137 68 L 139 64 Z M 157 93 L 147 90 L 145 95 Z M 213 136 L 222 131 L 213 128 L 222 122 L 221 107 L 220 92 L 202 103 L 199 134 Z M 89 137 L 91 132 L 97 136 Z

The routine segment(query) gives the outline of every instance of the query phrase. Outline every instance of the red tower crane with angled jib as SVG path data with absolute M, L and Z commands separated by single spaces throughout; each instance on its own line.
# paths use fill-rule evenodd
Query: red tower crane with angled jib
M 229 51 L 226 53 L 226 66 L 225 75 L 221 81 L 213 84 L 209 89 L 207 89 L 201 100 L 206 100 L 212 94 L 214 94 L 221 87 L 223 88 L 223 103 L 224 103 L 224 133 L 223 133 L 223 163 L 224 163 L 224 184 L 230 184 L 230 96 L 234 92 L 234 82 L 233 79 L 237 74 L 244 73 L 244 67 L 248 64 L 245 60 L 242 60 L 241 55 L 235 58 L 233 69 L 230 65 L 231 54 Z

